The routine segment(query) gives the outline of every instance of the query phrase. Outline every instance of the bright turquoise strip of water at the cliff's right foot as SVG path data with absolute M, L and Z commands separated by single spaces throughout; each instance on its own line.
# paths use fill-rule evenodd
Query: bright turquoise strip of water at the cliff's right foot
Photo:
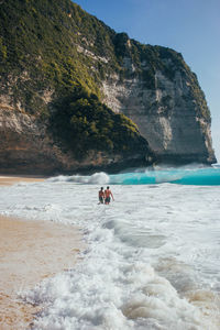
M 112 185 L 154 185 L 162 183 L 219 186 L 220 168 L 145 170 L 109 175 Z

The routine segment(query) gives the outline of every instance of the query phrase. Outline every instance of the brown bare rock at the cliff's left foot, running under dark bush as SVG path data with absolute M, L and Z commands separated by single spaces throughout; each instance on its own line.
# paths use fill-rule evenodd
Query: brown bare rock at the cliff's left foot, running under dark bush
M 35 117 L 0 105 L 0 172 L 2 174 L 52 175 L 90 172 L 91 169 L 119 170 L 127 166 L 151 163 L 136 153 L 128 157 L 90 151 L 77 161 L 70 151 L 58 145 L 47 125 Z

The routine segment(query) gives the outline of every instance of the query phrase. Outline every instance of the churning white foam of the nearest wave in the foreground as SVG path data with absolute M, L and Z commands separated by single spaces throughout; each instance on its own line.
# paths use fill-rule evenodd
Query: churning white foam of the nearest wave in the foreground
M 90 257 L 75 272 L 46 279 L 23 294 L 28 302 L 44 304 L 34 321 L 35 330 L 218 329 L 206 315 L 206 297 L 196 297 L 204 304 L 202 312 L 179 297 L 174 286 L 151 265 L 123 264 L 117 273 L 109 273 L 109 265 L 103 267 L 101 260 L 95 263 Z

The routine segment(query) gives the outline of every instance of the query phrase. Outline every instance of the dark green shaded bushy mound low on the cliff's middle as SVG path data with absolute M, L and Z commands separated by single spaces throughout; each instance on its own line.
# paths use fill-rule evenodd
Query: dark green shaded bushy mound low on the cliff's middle
M 72 97 L 54 105 L 51 125 L 54 136 L 75 156 L 82 158 L 90 150 L 110 154 L 148 152 L 136 125 L 123 114 L 112 112 L 96 95 L 77 87 Z

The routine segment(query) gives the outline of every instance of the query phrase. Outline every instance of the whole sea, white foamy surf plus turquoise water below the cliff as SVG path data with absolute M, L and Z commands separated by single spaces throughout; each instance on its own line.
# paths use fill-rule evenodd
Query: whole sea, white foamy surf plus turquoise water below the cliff
M 220 329 L 219 166 L 20 183 L 0 187 L 0 213 L 79 227 L 85 242 L 74 267 L 20 293 L 43 307 L 32 329 Z

